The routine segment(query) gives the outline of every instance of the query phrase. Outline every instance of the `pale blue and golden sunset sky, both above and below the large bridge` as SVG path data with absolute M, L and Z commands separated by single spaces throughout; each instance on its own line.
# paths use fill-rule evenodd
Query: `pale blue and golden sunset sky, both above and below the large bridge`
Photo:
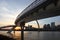
M 33 1 L 34 0 L 0 0 L 0 26 L 14 24 L 17 15 Z M 60 16 L 39 20 L 40 26 L 50 24 L 51 22 L 56 22 L 56 25 L 60 24 Z M 36 22 L 30 22 L 28 24 L 37 26 L 35 25 Z

